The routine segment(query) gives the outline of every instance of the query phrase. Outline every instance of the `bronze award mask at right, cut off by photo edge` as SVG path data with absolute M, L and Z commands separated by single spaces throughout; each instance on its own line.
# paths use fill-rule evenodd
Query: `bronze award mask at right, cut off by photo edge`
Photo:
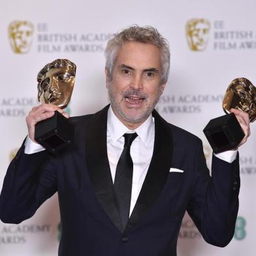
M 231 108 L 242 110 L 249 114 L 252 123 L 256 120 L 256 88 L 246 78 L 232 80 L 223 99 L 223 109 L 229 113 Z

